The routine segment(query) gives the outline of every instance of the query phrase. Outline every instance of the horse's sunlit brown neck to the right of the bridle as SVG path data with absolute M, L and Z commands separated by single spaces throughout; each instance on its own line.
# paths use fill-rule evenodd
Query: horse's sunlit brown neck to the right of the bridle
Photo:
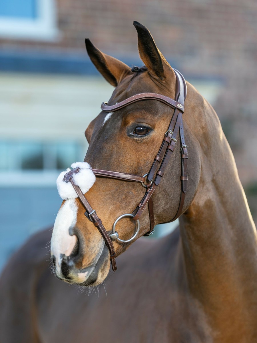
M 190 292 L 223 342 L 235 327 L 238 339 L 238 330 L 245 332 L 256 315 L 257 236 L 232 152 L 215 121 L 202 142 L 208 154 L 201 156 L 197 193 L 180 227 Z

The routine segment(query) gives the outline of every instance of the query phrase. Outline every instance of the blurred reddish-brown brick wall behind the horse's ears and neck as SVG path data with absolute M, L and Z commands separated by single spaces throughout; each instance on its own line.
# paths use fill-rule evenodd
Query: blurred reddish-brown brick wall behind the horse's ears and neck
M 185 76 L 222 80 L 214 105 L 244 185 L 257 182 L 256 0 L 57 0 L 57 42 L 0 40 L 4 48 L 84 51 L 89 37 L 114 56 L 137 54 L 137 20 Z

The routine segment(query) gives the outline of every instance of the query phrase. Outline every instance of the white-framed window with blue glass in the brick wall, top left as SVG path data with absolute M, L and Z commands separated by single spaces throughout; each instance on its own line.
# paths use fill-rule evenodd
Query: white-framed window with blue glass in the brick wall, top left
M 0 2 L 0 36 L 56 40 L 54 0 L 3 0 Z

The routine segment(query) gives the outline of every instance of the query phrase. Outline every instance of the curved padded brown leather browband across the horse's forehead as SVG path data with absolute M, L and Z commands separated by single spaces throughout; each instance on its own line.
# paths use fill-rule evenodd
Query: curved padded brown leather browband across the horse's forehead
M 139 93 L 136 95 L 132 95 L 131 97 L 121 101 L 118 104 L 115 105 L 107 105 L 107 103 L 102 103 L 101 110 L 105 112 L 114 112 L 118 111 L 120 108 L 123 108 L 129 104 L 135 103 L 140 100 L 145 99 L 155 99 L 158 100 L 166 105 L 171 106 L 172 108 L 178 108 L 182 113 L 184 112 L 184 106 L 181 103 L 178 103 L 172 98 L 169 98 L 168 96 L 157 94 L 157 93 Z

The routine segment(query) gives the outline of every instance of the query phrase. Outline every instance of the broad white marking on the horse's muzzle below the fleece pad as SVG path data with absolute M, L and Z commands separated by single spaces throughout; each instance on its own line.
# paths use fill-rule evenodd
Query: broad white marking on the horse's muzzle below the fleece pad
M 69 256 L 76 244 L 77 236 L 69 234 L 69 228 L 77 221 L 78 207 L 74 199 L 68 199 L 57 213 L 51 238 L 51 255 L 56 257 L 56 267 L 61 264 L 60 254 Z

